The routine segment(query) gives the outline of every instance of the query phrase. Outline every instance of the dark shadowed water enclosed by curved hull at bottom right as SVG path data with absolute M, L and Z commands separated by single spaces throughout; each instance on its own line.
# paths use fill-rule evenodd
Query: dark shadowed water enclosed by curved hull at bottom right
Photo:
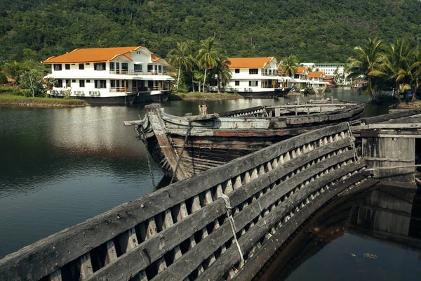
M 382 186 L 323 208 L 259 280 L 420 280 L 421 196 Z

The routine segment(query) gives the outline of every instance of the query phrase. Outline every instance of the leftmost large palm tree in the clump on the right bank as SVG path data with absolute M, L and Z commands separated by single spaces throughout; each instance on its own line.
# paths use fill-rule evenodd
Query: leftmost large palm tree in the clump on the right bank
M 365 89 L 366 94 L 370 95 L 374 100 L 377 99 L 378 93 L 382 89 L 382 82 L 389 78 L 385 73 L 385 53 L 383 51 L 383 42 L 381 40 L 368 39 L 364 46 L 354 48 L 356 55 L 348 58 L 349 72 L 348 78 L 356 79 L 363 77 L 367 80 Z

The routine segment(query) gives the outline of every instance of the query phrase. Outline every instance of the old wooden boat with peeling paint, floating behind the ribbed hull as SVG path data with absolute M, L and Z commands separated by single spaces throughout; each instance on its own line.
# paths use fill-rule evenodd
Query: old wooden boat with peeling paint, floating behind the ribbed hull
M 135 125 L 163 172 L 181 180 L 291 136 L 359 118 L 364 105 L 316 100 L 185 117 L 159 105 L 145 109 L 144 119 L 125 124 Z

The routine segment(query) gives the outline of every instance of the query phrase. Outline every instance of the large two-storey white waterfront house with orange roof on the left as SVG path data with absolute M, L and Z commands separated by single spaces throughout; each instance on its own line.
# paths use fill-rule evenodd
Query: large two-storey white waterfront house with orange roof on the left
M 174 80 L 165 74 L 166 60 L 143 46 L 77 48 L 41 63 L 51 64 L 46 78 L 56 80 L 51 96 L 69 93 L 95 104 L 165 101 Z

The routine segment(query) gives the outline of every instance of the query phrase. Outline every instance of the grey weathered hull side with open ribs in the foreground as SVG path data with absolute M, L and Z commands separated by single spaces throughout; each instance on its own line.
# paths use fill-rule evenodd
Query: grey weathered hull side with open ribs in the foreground
M 323 204 L 377 184 L 358 150 L 347 123 L 289 138 L 10 254 L 0 280 L 250 280 Z

